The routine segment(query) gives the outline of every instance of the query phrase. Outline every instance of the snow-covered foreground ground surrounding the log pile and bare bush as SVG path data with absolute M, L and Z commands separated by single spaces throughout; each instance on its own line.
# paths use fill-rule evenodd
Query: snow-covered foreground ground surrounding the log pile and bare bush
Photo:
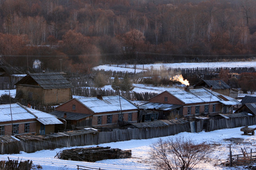
M 250 127 L 256 127 L 256 125 Z M 252 149 L 253 152 L 256 151 L 256 137 L 243 135 L 240 131 L 240 127 L 200 133 L 183 132 L 174 136 L 161 138 L 165 140 L 168 137 L 176 138 L 179 136 L 192 139 L 195 143 L 205 143 L 212 146 L 212 153 L 207 155 L 206 159 L 201 161 L 194 170 L 238 170 L 239 167 L 231 168 L 221 165 L 222 162 L 228 161 L 229 159 L 229 144 L 231 144 L 233 154 L 240 154 L 241 148 L 246 148 L 247 152 L 250 151 L 250 149 Z M 76 165 L 101 168 L 104 170 L 154 170 L 154 166 L 150 163 L 148 151 L 150 150 L 150 145 L 157 142 L 158 139 L 159 138 L 153 138 L 99 144 L 99 146 L 104 147 L 110 146 L 111 148 L 131 150 L 132 158 L 128 159 L 103 160 L 97 162 L 67 161 L 54 157 L 57 152 L 70 148 L 58 148 L 55 150 L 37 151 L 36 153 L 21 152 L 20 154 L 4 154 L 0 155 L 0 160 L 8 160 L 8 157 L 9 159 L 22 159 L 23 161 L 32 160 L 35 168 L 37 165 L 41 165 L 43 170 L 76 170 Z M 79 147 L 92 146 L 96 145 Z M 242 168 L 239 170 L 242 170 Z

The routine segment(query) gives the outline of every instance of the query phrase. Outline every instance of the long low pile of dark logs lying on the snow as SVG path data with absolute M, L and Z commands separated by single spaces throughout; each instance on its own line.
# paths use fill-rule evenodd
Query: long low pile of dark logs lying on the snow
M 91 147 L 66 149 L 56 154 L 57 158 L 72 161 L 101 161 L 105 159 L 131 158 L 131 150 L 111 149 L 110 147 Z

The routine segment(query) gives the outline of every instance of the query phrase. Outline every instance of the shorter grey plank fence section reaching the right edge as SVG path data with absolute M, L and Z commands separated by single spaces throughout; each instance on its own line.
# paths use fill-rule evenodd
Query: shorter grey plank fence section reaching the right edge
M 229 119 L 210 119 L 206 131 L 213 131 L 223 128 L 234 128 L 256 124 L 256 117 L 247 116 Z

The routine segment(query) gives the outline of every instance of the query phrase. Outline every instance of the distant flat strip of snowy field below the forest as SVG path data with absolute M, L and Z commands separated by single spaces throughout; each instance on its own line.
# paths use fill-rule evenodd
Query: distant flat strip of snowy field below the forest
M 256 61 L 239 61 L 239 62 L 200 62 L 200 63 L 157 63 L 157 64 L 145 64 L 137 65 L 136 72 L 142 72 L 148 69 L 164 69 L 164 68 L 251 68 L 256 67 Z M 144 70 L 143 70 L 144 68 Z M 124 71 L 134 72 L 134 65 L 101 65 L 94 67 L 94 69 L 103 69 L 105 71 Z

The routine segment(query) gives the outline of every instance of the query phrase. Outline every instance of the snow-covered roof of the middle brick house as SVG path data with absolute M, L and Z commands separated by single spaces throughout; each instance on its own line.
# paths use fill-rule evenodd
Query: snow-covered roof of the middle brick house
M 102 99 L 97 97 L 75 98 L 84 106 L 91 109 L 94 113 L 117 111 L 120 110 L 119 96 L 103 96 Z M 120 96 L 122 110 L 136 110 L 138 109 L 133 103 L 126 98 Z

